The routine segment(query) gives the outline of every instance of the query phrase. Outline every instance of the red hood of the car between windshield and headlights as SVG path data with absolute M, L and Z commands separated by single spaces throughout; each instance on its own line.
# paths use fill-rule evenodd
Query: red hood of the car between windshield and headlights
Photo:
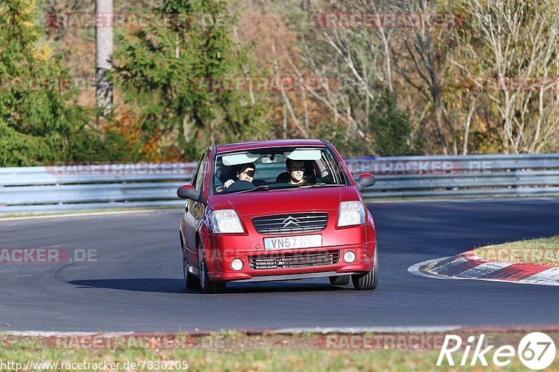
M 354 186 L 212 195 L 210 208 L 235 209 L 239 216 L 337 210 L 340 202 L 361 200 Z

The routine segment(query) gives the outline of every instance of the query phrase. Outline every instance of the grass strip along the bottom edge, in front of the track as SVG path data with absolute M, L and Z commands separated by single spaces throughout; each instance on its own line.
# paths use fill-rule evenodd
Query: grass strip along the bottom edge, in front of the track
M 343 336 L 366 338 L 381 335 L 335 335 L 335 337 Z M 409 334 L 405 336 L 406 339 L 409 339 Z M 516 336 L 521 337 L 523 334 Z M 68 343 L 64 344 L 66 346 L 61 346 L 61 343 L 50 342 L 49 338 L 0 336 L 0 363 L 4 362 L 5 366 L 7 366 L 7 362 L 20 363 L 23 366 L 22 370 L 25 370 L 29 360 L 36 363 L 58 363 L 58 370 L 61 369 L 60 363 L 102 364 L 105 362 L 107 364 L 119 363 L 118 370 L 124 370 L 126 363 L 137 363 L 139 366 L 136 369 L 140 371 L 170 370 L 161 368 L 164 362 L 168 365 L 173 362 L 175 366 L 180 366 L 180 368 L 174 368 L 175 370 L 184 370 L 184 366 L 188 366 L 188 369 L 193 371 L 453 371 L 456 369 L 456 367 L 449 366 L 447 362 L 436 366 L 440 347 L 430 348 L 430 350 L 399 350 L 386 348 L 386 345 L 384 348 L 370 350 L 349 347 L 326 348 L 324 342 L 326 336 L 321 334 L 247 335 L 235 332 L 233 334 L 187 337 L 189 339 L 187 348 L 84 350 L 84 345 L 76 348 L 76 345 L 73 344 L 71 348 L 64 348 L 68 347 Z M 442 337 L 444 338 L 444 335 Z M 554 335 L 553 338 L 557 339 L 557 335 Z M 386 338 L 384 339 L 386 340 Z M 507 339 L 507 343 L 516 348 L 517 341 L 511 340 Z M 374 345 L 374 343 L 372 344 Z M 349 343 L 337 343 L 337 345 L 349 346 Z M 487 368 L 495 370 L 496 367 L 491 364 L 492 355 L 492 352 L 486 354 L 489 364 Z M 456 352 L 453 355 L 454 362 L 459 364 L 462 356 L 463 351 Z M 472 353 L 467 358 L 467 366 L 458 368 L 465 371 L 480 371 L 479 361 L 476 366 L 472 367 L 470 366 L 471 359 Z M 518 357 L 511 359 L 511 364 L 502 370 L 525 371 L 525 367 Z M 151 368 L 148 368 L 150 365 Z M 57 368 L 47 366 L 42 370 L 52 371 Z M 38 369 L 37 364 L 35 364 L 35 369 Z M 98 369 L 102 370 L 103 367 L 98 367 Z M 129 368 L 129 370 L 133 369 Z M 9 371 L 15 370 L 15 368 L 4 368 L 3 370 Z M 73 370 L 87 371 L 88 369 L 75 365 Z M 548 370 L 559 371 L 559 361 L 554 361 Z

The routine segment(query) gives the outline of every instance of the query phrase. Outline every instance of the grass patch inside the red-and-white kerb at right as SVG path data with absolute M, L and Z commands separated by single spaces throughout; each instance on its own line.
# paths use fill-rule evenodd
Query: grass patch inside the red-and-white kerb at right
M 475 248 L 484 260 L 559 266 L 559 235 Z

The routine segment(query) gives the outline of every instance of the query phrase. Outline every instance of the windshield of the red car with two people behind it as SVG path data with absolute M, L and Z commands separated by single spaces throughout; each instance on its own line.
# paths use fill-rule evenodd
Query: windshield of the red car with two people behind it
M 327 147 L 277 147 L 219 154 L 214 193 L 347 186 L 340 163 Z

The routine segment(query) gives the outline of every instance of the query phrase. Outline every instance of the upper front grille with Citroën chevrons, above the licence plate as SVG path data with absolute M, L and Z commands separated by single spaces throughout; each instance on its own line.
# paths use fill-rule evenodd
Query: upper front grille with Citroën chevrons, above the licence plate
M 326 228 L 327 213 L 277 214 L 252 218 L 252 225 L 260 234 L 298 234 Z

